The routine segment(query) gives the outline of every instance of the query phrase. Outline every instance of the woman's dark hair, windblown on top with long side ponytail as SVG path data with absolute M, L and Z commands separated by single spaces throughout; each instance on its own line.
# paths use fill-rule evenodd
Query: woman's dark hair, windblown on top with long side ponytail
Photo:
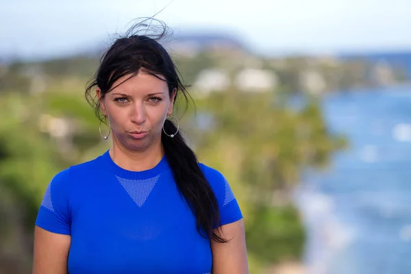
M 158 23 L 158 25 L 153 25 L 153 23 Z M 140 27 L 145 28 L 145 34 L 136 34 L 136 30 Z M 160 32 L 155 34 L 159 30 Z M 100 121 L 103 121 L 104 117 L 101 114 L 99 99 L 93 96 L 95 93 L 92 93 L 92 89 L 99 87 L 101 98 L 103 98 L 107 92 L 114 88 L 114 82 L 125 75 L 132 77 L 140 69 L 145 69 L 155 77 L 162 75 L 168 84 L 170 95 L 173 94 L 173 90 L 177 90 L 174 102 L 178 101 L 177 97 L 183 95 L 188 103 L 188 99 L 191 97 L 179 77 L 179 71 L 169 53 L 158 42 L 166 37 L 169 33 L 168 30 L 161 21 L 145 18 L 131 27 L 125 36 L 116 38 L 108 51 L 103 54 L 99 69 L 86 88 L 86 99 L 95 109 Z M 177 127 L 166 119 L 164 130 L 176 132 Z M 186 141 L 180 133 L 175 134 L 174 138 L 170 138 L 162 132 L 161 141 L 177 188 L 186 199 L 192 213 L 195 214 L 197 231 L 205 238 L 212 238 L 216 242 L 227 242 L 219 236 L 221 233 L 214 232 L 214 229 L 220 229 L 219 207 L 216 196 L 199 167 L 197 156 L 186 145 Z

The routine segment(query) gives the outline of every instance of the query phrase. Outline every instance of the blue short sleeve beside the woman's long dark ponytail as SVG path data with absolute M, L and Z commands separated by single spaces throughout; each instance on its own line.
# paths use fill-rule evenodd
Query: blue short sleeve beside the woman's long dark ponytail
M 217 203 L 219 204 L 219 225 L 227 225 L 242 219 L 240 206 L 238 206 L 234 192 L 224 175 L 204 164 L 201 164 L 201 169 L 212 186 Z

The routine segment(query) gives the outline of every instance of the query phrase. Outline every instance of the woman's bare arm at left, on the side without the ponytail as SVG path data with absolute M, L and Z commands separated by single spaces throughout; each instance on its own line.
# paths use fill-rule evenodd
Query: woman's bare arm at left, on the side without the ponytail
M 33 274 L 67 274 L 71 236 L 34 229 Z

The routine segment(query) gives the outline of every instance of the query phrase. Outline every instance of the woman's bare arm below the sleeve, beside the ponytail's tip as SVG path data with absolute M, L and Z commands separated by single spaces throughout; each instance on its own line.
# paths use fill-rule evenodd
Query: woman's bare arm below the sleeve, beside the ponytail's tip
M 248 274 L 247 248 L 242 219 L 221 226 L 225 243 L 212 241 L 213 274 Z

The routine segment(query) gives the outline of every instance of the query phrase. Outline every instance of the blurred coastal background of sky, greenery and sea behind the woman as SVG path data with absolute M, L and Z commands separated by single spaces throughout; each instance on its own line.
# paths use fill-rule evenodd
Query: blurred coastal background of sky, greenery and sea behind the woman
M 234 190 L 251 273 L 411 273 L 409 0 L 0 0 L 0 273 L 31 273 L 51 177 L 110 147 L 84 88 L 157 12 L 196 103 L 180 128 Z

